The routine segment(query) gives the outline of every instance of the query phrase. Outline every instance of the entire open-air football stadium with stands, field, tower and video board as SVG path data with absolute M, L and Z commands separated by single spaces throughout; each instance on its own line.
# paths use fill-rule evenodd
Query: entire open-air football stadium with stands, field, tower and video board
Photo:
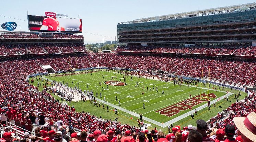
M 110 52 L 82 19 L 27 22 L 1 26 L 1 142 L 256 141 L 256 3 L 118 23 Z

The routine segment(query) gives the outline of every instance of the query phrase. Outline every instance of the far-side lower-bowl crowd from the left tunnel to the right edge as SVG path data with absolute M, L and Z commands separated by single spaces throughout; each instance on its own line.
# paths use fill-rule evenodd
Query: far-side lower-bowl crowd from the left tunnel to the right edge
M 119 67 L 139 70 L 163 70 L 176 75 L 208 77 L 244 85 L 256 84 L 256 62 L 220 58 L 176 56 L 119 55 L 88 53 L 81 55 L 37 57 L 39 65 L 50 65 L 55 71 L 89 67 Z

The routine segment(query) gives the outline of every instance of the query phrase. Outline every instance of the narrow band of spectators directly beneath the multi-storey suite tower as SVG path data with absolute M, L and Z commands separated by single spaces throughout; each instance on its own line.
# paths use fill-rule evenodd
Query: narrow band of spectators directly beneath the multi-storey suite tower
M 158 46 L 118 46 L 117 52 L 166 52 L 166 53 L 199 53 L 256 56 L 256 46 L 249 47 L 158 47 Z

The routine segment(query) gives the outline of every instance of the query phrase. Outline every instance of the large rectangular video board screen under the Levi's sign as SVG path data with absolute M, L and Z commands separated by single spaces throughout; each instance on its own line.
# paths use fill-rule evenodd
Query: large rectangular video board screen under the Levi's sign
M 82 19 L 28 15 L 30 31 L 82 32 Z

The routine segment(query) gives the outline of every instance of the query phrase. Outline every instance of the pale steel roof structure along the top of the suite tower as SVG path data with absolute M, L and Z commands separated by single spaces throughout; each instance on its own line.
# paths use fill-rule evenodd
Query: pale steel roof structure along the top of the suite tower
M 206 16 L 205 14 L 221 14 L 226 12 L 238 12 L 244 11 L 247 9 L 255 9 L 256 3 L 246 3 L 246 4 L 238 4 L 232 6 L 223 6 L 219 8 L 212 8 L 212 9 L 204 9 L 204 10 L 197 10 L 197 11 L 189 11 L 189 12 L 182 12 L 182 13 L 175 13 L 175 14 L 168 14 L 168 15 L 161 15 L 161 16 L 154 16 L 154 17 L 147 17 L 141 19 L 135 19 L 130 22 L 121 22 L 119 24 L 132 24 L 132 23 L 143 23 L 143 22 L 155 22 L 159 20 L 170 20 L 170 19 L 177 19 L 177 18 L 186 18 L 189 14 L 197 14 L 197 16 Z

